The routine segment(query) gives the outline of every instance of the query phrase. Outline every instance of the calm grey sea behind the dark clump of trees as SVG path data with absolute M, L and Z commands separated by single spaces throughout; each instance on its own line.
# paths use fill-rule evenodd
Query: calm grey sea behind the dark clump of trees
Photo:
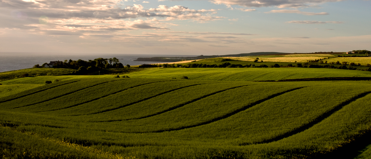
M 198 55 L 164 55 L 164 54 L 112 54 L 112 53 L 27 53 L 27 52 L 0 52 L 0 72 L 27 69 L 35 64 L 42 65 L 51 61 L 64 60 L 94 60 L 97 58 L 114 58 L 126 66 L 164 63 L 164 62 L 145 62 L 134 61 L 138 57 L 194 57 Z

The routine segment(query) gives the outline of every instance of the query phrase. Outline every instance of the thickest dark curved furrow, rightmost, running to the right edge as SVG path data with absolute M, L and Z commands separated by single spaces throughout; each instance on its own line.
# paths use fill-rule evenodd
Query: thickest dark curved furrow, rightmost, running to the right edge
M 285 134 L 282 134 L 280 136 L 276 136 L 275 138 L 273 139 L 268 139 L 268 140 L 265 140 L 265 141 L 262 141 L 262 142 L 255 142 L 255 143 L 240 143 L 240 146 L 243 146 L 243 145 L 252 145 L 252 144 L 260 144 L 260 143 L 270 143 L 270 142 L 273 142 L 273 141 L 278 141 L 278 140 L 281 140 L 283 138 L 287 138 L 289 136 L 292 136 L 292 135 L 295 135 L 297 133 L 300 133 L 300 132 L 303 132 L 304 130 L 306 129 L 309 129 L 311 128 L 312 126 L 316 125 L 317 123 L 321 122 L 322 120 L 326 119 L 327 117 L 331 116 L 332 114 L 334 114 L 335 112 L 337 112 L 338 110 L 340 110 L 342 107 L 348 105 L 349 103 L 361 98 L 361 97 L 364 97 L 368 94 L 370 94 L 371 91 L 368 91 L 368 92 L 364 92 L 364 93 L 361 93 L 355 97 L 352 97 L 351 99 L 345 101 L 345 102 L 342 102 L 340 103 L 339 105 L 335 106 L 333 109 L 329 110 L 328 112 L 322 114 L 321 116 L 317 117 L 316 119 L 314 119 L 312 122 L 309 122 L 308 124 L 305 124 L 301 127 L 298 127 L 297 129 L 291 131 L 291 132 L 287 132 Z

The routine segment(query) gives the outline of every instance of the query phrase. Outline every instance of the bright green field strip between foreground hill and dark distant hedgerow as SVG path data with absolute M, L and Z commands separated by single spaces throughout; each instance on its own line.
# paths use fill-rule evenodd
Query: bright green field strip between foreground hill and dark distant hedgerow
M 127 74 L 132 78 L 260 81 L 320 77 L 371 77 L 367 71 L 314 68 L 167 68 Z

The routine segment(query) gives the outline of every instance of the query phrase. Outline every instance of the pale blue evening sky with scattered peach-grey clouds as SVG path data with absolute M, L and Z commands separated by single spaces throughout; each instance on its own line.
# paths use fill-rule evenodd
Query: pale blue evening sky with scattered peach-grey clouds
M 0 0 L 0 52 L 371 50 L 371 0 Z

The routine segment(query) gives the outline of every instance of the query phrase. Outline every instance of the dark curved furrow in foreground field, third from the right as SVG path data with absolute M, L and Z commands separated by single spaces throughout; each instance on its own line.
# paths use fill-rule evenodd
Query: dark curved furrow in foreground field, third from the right
M 245 85 L 245 86 L 251 86 L 251 85 Z M 122 119 L 122 120 L 107 120 L 107 121 L 99 121 L 99 122 L 92 122 L 92 123 L 102 123 L 102 122 L 119 122 L 119 121 L 125 121 L 125 120 L 136 120 L 136 119 L 144 119 L 144 118 L 147 118 L 147 117 L 152 117 L 152 116 L 155 116 L 155 115 L 160 115 L 162 113 L 166 113 L 166 112 L 169 112 L 171 110 L 174 110 L 174 109 L 178 109 L 180 107 L 183 107 L 187 104 L 190 104 L 190 103 L 193 103 L 193 102 L 196 102 L 197 100 L 200 100 L 200 99 L 203 99 L 203 98 L 206 98 L 208 96 L 212 96 L 212 95 L 215 95 L 217 93 L 221 93 L 221 92 L 224 92 L 224 91 L 227 91 L 227 90 L 230 90 L 230 89 L 235 89 L 235 88 L 239 88 L 239 87 L 244 87 L 244 86 L 237 86 L 237 87 L 232 87 L 232 88 L 229 88 L 229 89 L 224 89 L 224 90 L 220 90 L 220 91 L 217 91 L 217 92 L 214 92 L 214 93 L 210 93 L 208 95 L 204 95 L 202 97 L 198 97 L 196 99 L 192 99 L 188 102 L 185 102 L 183 104 L 180 104 L 180 105 L 177 105 L 177 106 L 174 106 L 174 107 L 170 107 L 169 109 L 166 109 L 166 110 L 163 110 L 161 112 L 157 112 L 157 113 L 154 113 L 154 114 L 151 114 L 151 115 L 147 115 L 147 116 L 142 116 L 142 117 L 137 117 L 137 118 L 132 118 L 132 119 Z

